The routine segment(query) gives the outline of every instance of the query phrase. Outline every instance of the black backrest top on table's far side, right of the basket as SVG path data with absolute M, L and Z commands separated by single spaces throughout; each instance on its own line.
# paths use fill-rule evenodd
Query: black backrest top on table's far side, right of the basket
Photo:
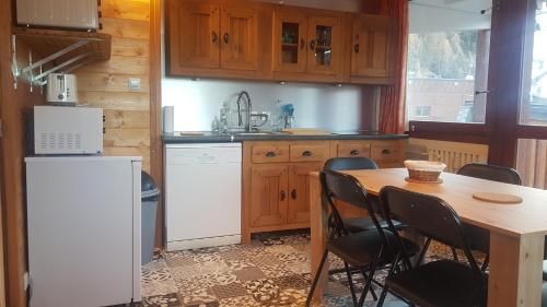
M 470 163 L 462 166 L 457 170 L 457 174 L 511 185 L 521 185 L 521 176 L 510 167 Z

